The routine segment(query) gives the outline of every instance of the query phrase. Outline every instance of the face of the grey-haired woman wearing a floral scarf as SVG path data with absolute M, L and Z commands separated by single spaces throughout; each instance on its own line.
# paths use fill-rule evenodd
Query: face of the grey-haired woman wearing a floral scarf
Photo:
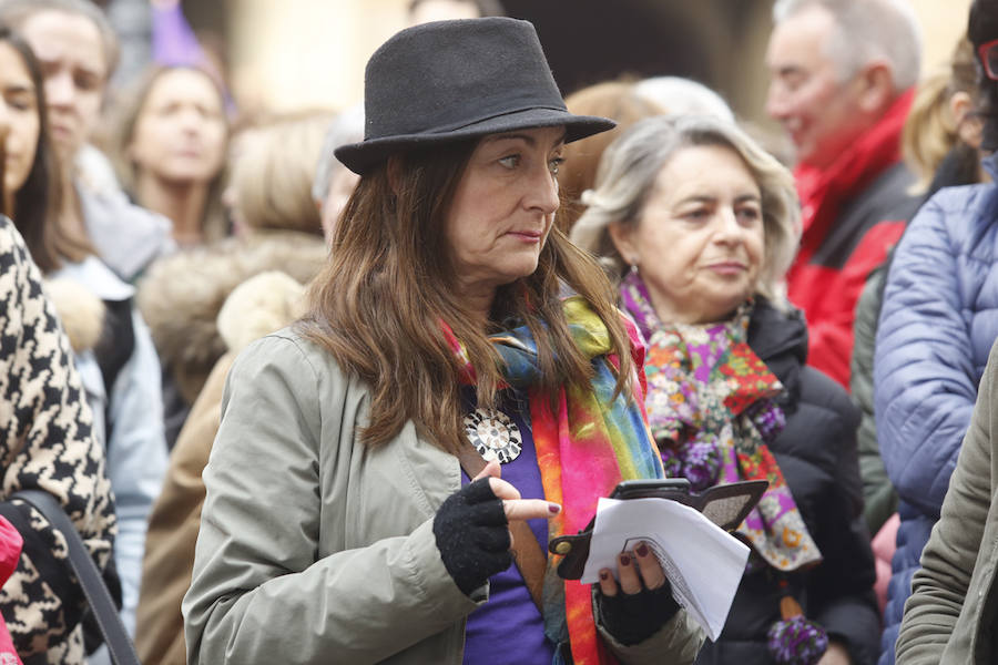
M 611 225 L 663 321 L 724 320 L 754 290 L 764 259 L 758 185 L 734 151 L 676 152 L 634 226 Z

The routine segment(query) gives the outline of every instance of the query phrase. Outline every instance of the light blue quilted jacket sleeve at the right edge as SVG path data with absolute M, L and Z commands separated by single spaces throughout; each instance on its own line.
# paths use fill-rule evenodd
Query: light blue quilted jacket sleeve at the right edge
M 974 218 L 975 191 L 944 190 L 897 247 L 874 359 L 880 454 L 898 495 L 938 516 L 977 397 L 972 339 L 960 280 L 975 265 L 957 224 Z M 970 193 L 968 196 L 968 192 Z

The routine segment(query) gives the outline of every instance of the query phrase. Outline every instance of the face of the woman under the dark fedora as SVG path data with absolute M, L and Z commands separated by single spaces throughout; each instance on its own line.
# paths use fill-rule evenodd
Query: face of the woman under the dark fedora
M 445 233 L 462 295 L 490 299 L 531 275 L 558 209 L 564 127 L 482 139 L 455 192 Z

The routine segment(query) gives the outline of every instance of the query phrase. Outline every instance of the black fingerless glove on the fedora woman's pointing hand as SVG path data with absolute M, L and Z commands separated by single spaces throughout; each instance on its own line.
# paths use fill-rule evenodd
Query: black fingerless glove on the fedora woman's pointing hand
M 512 563 L 509 521 L 488 478 L 447 498 L 434 518 L 434 535 L 447 572 L 465 595 Z

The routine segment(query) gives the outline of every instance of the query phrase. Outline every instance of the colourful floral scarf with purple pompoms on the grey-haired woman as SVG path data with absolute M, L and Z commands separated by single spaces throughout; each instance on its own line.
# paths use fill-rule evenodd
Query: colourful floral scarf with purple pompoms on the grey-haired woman
M 690 479 L 694 490 L 767 480 L 770 488 L 739 532 L 776 570 L 819 563 L 767 447 L 785 423 L 773 399 L 783 386 L 748 347 L 752 301 L 731 321 L 695 326 L 660 321 L 637 272 L 623 279 L 621 297 L 648 339 L 645 406 L 666 474 Z

